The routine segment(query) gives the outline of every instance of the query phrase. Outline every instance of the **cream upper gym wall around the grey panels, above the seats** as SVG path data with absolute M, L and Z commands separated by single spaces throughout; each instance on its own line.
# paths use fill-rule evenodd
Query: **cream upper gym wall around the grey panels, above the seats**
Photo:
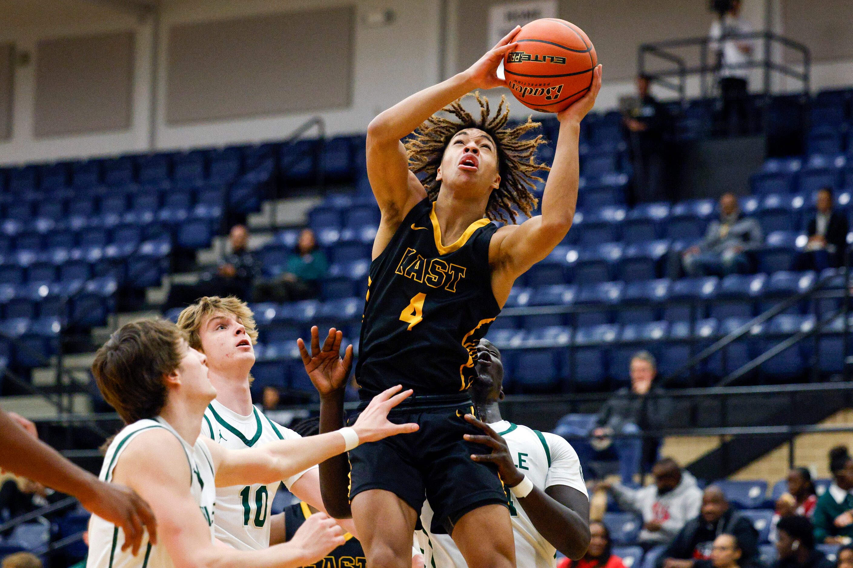
M 440 28 L 440 5 L 447 3 L 447 28 Z M 320 113 L 326 119 L 328 132 L 351 133 L 363 131 L 376 113 L 423 89 L 439 78 L 442 65 L 438 57 L 444 53 L 444 74 L 454 72 L 456 61 L 456 30 L 465 22 L 456 21 L 455 3 L 464 0 L 171 0 L 161 4 L 158 33 L 157 81 L 152 89 L 152 47 L 154 24 L 136 20 L 127 14 L 107 13 L 90 23 L 73 25 L 16 26 L 4 28 L 0 22 L 0 41 L 9 40 L 19 50 L 29 51 L 33 60 L 28 66 L 15 70 L 13 135 L 0 141 L 0 164 L 20 164 L 53 159 L 84 158 L 113 155 L 121 152 L 144 152 L 149 149 L 178 149 L 196 146 L 225 145 L 249 141 L 278 140 L 316 113 L 289 116 L 246 118 L 197 125 L 169 126 L 165 124 L 164 108 L 154 106 L 152 123 L 152 92 L 156 100 L 164 100 L 165 38 L 168 26 L 179 22 L 213 20 L 247 14 L 264 14 L 350 3 L 356 6 L 355 61 L 352 105 L 345 110 Z M 772 0 L 771 9 L 778 10 L 780 0 Z M 756 29 L 763 28 L 765 0 L 745 0 L 744 15 Z M 368 27 L 364 14 L 392 8 L 397 20 L 390 26 Z M 64 21 L 64 20 L 63 20 Z M 776 19 L 778 22 L 778 19 Z M 38 39 L 74 34 L 109 32 L 133 29 L 136 31 L 136 65 L 134 67 L 134 97 L 132 128 L 125 132 L 67 136 L 51 140 L 32 137 L 32 101 L 35 84 L 35 48 Z M 464 28 L 463 28 L 464 29 Z M 777 32 L 784 33 L 777 26 Z M 444 37 L 444 49 L 439 49 Z M 593 38 L 595 41 L 595 38 Z M 297 48 L 298 49 L 298 48 Z M 282 62 L 286 65 L 287 62 Z M 813 66 L 813 90 L 853 84 L 853 61 L 821 63 Z M 793 83 L 789 83 L 793 87 Z M 699 92 L 698 83 L 688 83 L 688 95 Z M 634 93 L 631 81 L 607 81 L 596 105 L 607 110 L 618 105 L 621 95 Z M 667 95 L 659 92 L 659 95 Z M 514 114 L 527 111 L 513 105 Z

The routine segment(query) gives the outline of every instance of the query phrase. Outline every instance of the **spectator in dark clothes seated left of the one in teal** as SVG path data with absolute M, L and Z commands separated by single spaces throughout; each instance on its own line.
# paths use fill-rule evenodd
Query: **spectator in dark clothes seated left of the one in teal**
M 205 295 L 226 297 L 235 295 L 250 300 L 252 284 L 260 276 L 260 265 L 249 252 L 249 231 L 245 225 L 231 227 L 228 235 L 229 252 L 223 256 L 215 271 L 201 275 L 196 284 L 172 284 L 164 311 L 171 307 L 186 307 Z

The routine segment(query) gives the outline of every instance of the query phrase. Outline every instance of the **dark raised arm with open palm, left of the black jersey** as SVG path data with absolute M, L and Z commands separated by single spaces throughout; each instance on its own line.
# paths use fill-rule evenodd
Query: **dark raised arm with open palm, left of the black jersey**
M 305 372 L 320 393 L 320 433 L 344 427 L 344 391 L 352 368 L 352 346 L 340 357 L 343 334 L 332 328 L 320 347 L 320 333 L 311 328 L 311 353 L 305 341 L 297 340 Z M 349 498 L 350 461 L 346 453 L 320 463 L 320 492 L 323 507 L 335 519 L 351 519 Z

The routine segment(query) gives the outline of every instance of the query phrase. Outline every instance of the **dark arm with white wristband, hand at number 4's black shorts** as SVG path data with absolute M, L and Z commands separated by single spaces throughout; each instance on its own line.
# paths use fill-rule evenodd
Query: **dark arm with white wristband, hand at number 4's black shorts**
M 491 448 L 490 454 L 471 456 L 475 462 L 489 462 L 497 466 L 498 473 L 507 487 L 512 489 L 525 478 L 515 467 L 509 448 L 498 433 L 488 424 L 480 422 L 470 414 L 465 420 L 479 427 L 485 435 L 465 435 L 465 439 Z M 556 460 L 556 456 L 555 460 Z M 576 458 L 577 461 L 577 458 Z M 555 462 L 552 467 L 560 467 Z M 577 468 L 580 463 L 577 462 Z M 551 543 L 551 546 L 572 560 L 583 558 L 589 547 L 589 499 L 568 485 L 550 485 L 545 491 L 533 487 L 527 496 L 519 498 L 531 523 Z

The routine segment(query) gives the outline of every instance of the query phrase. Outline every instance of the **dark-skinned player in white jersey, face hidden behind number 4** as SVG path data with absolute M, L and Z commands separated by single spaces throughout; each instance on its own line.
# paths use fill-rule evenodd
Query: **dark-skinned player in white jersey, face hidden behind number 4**
M 495 463 L 508 487 L 518 565 L 554 568 L 557 550 L 581 558 L 589 546 L 589 496 L 575 450 L 560 436 L 502 420 L 500 352 L 484 339 L 477 353 L 473 401 L 485 423 L 473 416 L 466 419 L 485 432 L 469 439 L 488 445 L 492 453 L 472 458 Z M 416 546 L 423 550 L 427 566 L 467 568 L 450 535 L 440 534 L 433 525 L 429 502 L 421 510 L 421 525 L 415 532 Z

